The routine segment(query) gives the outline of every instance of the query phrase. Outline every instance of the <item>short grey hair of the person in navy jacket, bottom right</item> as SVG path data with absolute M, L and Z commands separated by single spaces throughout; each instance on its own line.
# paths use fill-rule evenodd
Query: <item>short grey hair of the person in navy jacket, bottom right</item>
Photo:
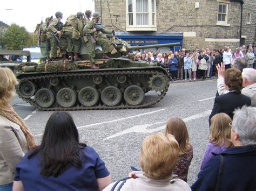
M 256 108 L 242 107 L 234 111 L 233 131 L 239 135 L 240 142 L 247 145 L 256 144 Z

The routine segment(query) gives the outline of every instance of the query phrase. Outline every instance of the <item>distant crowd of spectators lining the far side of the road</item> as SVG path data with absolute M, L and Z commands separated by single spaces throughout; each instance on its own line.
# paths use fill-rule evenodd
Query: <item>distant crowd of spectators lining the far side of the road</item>
M 167 53 L 160 53 L 157 50 L 156 54 L 152 51 L 143 54 L 139 50 L 136 51 L 133 60 L 146 61 L 152 63 L 154 61 L 169 66 L 170 80 L 205 80 L 217 75 L 216 65 L 221 62 L 224 63 L 225 68 L 234 66 L 234 60 L 242 58 L 245 60 L 248 68 L 256 68 L 256 47 L 255 44 L 242 46 L 231 49 L 225 46 L 221 49 L 196 48 L 194 51 L 186 50 L 185 48 L 179 51 Z M 184 76 L 184 77 L 183 77 Z

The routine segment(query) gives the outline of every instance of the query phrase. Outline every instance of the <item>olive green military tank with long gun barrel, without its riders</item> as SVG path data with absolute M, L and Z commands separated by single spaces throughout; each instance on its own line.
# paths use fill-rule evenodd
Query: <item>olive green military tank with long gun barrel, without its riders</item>
M 22 72 L 16 74 L 18 96 L 44 111 L 145 108 L 163 99 L 169 87 L 167 69 L 132 61 L 124 55 L 136 49 L 179 43 L 131 46 L 120 39 L 114 41 L 116 54 L 109 54 L 110 59 L 100 59 L 101 48 L 96 47 L 95 63 L 99 69 L 90 69 L 84 45 L 80 52 L 82 61 L 23 64 Z

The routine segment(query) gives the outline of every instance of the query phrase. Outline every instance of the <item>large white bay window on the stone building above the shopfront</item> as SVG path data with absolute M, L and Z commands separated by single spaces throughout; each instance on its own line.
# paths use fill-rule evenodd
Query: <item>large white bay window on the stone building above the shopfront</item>
M 156 0 L 126 0 L 126 31 L 156 31 Z

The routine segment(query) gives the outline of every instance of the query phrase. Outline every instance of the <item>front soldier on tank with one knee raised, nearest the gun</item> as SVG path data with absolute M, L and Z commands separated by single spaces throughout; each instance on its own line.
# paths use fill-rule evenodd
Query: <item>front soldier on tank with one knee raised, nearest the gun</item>
M 97 23 L 99 23 L 100 15 L 98 12 L 93 13 L 92 20 L 86 23 L 84 27 L 84 34 L 87 36 L 86 46 L 89 51 L 89 57 L 91 62 L 92 69 L 98 69 L 98 66 L 95 66 L 95 47 L 97 45 L 102 46 L 103 59 L 109 59 L 106 55 L 109 52 L 109 40 L 103 33 L 112 34 L 114 31 L 106 30 L 103 27 L 99 27 Z

